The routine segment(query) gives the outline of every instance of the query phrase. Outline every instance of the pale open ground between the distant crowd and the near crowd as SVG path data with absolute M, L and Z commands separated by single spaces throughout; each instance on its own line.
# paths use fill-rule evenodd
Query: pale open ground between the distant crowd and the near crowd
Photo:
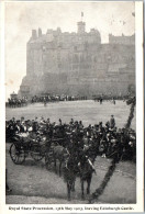
M 7 108 L 5 117 L 10 120 L 14 116 L 16 120 L 20 120 L 21 116 L 24 116 L 25 120 L 34 120 L 35 116 L 44 116 L 44 119 L 49 117 L 51 122 L 56 123 L 58 123 L 59 119 L 62 119 L 63 123 L 69 123 L 70 119 L 74 119 L 75 121 L 82 121 L 83 125 L 87 126 L 89 124 L 99 124 L 99 122 L 103 122 L 104 125 L 110 120 L 111 114 L 113 114 L 116 126 L 122 128 L 129 119 L 130 108 L 123 101 L 116 101 L 116 104 L 110 101 L 104 101 L 102 104 L 92 100 L 64 101 L 48 103 L 46 106 L 43 103 L 36 103 L 23 108 Z M 135 112 L 131 127 L 136 129 Z

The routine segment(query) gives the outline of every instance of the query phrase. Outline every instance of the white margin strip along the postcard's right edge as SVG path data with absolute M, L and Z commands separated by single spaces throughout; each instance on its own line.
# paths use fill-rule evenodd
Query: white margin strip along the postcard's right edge
M 136 153 L 137 153 L 137 205 L 142 206 L 144 187 L 144 70 L 143 70 L 143 2 L 135 2 L 136 42 Z M 141 189 L 142 188 L 142 189 Z M 137 210 L 138 211 L 138 210 Z

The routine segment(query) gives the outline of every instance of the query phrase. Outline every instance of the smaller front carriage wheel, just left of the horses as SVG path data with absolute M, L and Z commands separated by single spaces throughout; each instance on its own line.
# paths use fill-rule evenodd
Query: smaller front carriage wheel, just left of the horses
M 42 153 L 42 148 L 40 145 L 33 145 L 31 148 L 31 157 L 35 160 L 35 161 L 40 161 L 43 159 L 44 154 Z

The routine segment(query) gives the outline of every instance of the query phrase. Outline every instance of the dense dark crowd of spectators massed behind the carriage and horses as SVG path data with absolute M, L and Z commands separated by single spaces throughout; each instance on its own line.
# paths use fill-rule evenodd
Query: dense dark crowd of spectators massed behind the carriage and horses
M 57 140 L 66 147 L 70 154 L 83 153 L 91 158 L 97 155 L 112 158 L 118 155 L 122 160 L 136 159 L 136 135 L 135 131 L 129 128 L 118 128 L 115 119 L 111 119 L 103 124 L 83 126 L 82 121 L 70 120 L 69 123 L 51 122 L 49 119 L 35 117 L 34 120 L 15 120 L 14 117 L 5 122 L 7 142 L 13 136 L 26 136 L 26 138 L 42 137 L 44 140 Z

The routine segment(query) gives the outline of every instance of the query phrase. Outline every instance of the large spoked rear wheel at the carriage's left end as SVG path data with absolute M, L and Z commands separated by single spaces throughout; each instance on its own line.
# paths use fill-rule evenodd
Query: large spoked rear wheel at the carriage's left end
M 25 160 L 25 153 L 23 146 L 12 144 L 10 146 L 10 157 L 15 165 L 22 165 Z

